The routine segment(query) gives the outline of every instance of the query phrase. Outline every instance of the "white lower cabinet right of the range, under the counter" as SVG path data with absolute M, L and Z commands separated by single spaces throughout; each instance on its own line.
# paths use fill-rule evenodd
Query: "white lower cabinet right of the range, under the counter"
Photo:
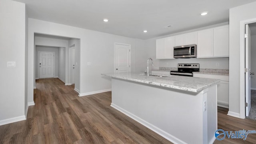
M 215 75 L 215 74 L 193 74 L 194 77 L 198 78 L 214 78 L 220 79 L 221 81 L 217 84 L 217 102 L 218 106 L 228 108 L 228 76 Z

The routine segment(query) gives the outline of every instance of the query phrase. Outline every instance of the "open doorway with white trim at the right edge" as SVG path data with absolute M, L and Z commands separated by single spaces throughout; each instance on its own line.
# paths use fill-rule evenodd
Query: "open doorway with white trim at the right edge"
M 256 92 L 252 91 L 256 87 L 256 77 L 254 77 L 256 58 L 253 55 L 256 53 L 256 44 L 252 44 L 256 39 L 251 40 L 254 38 L 252 36 L 254 32 L 256 32 L 256 18 L 240 22 L 240 118 L 248 118 L 254 113 L 252 117 L 256 120 L 256 103 L 254 102 L 256 99 L 252 102 L 256 97 Z

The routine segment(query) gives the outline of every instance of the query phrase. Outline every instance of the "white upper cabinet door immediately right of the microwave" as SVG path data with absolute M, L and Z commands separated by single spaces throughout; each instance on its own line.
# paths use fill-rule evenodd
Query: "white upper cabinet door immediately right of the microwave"
M 213 29 L 197 32 L 197 58 L 213 56 Z

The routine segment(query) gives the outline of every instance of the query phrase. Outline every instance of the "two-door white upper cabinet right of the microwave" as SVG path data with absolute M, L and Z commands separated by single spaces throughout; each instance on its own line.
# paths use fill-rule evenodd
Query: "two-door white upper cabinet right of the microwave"
M 228 57 L 229 28 L 219 26 L 197 32 L 197 58 Z

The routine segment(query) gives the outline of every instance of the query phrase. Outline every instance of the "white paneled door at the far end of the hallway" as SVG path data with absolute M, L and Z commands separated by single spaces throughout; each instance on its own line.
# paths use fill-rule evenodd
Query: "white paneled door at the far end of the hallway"
M 54 52 L 39 52 L 39 78 L 54 77 Z

